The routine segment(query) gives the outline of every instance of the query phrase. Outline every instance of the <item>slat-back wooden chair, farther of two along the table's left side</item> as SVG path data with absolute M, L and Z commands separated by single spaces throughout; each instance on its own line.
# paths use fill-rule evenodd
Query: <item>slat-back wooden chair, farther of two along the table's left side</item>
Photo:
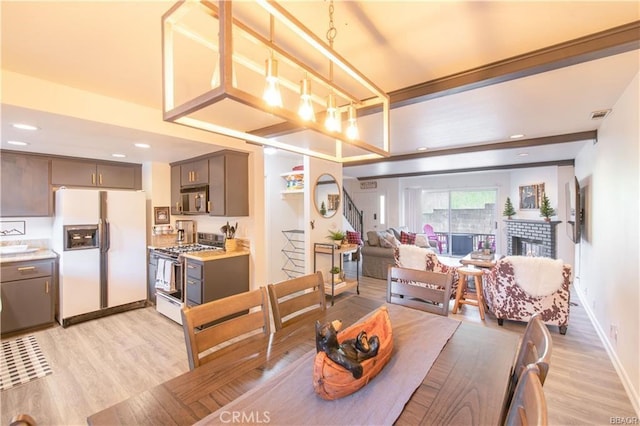
M 276 330 L 308 311 L 326 309 L 322 272 L 269 284 L 269 299 Z

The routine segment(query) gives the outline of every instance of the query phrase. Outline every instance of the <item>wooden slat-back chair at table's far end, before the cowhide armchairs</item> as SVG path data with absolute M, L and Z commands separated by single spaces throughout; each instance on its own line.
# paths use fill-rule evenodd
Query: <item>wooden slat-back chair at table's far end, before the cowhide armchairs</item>
M 418 269 L 389 267 L 387 302 L 438 315 L 449 315 L 453 275 Z

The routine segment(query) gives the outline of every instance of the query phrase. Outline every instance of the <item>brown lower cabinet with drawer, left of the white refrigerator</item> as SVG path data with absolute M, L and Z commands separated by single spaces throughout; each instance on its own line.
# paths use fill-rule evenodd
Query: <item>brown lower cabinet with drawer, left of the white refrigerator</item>
M 55 277 L 55 259 L 2 265 L 2 334 L 53 324 Z

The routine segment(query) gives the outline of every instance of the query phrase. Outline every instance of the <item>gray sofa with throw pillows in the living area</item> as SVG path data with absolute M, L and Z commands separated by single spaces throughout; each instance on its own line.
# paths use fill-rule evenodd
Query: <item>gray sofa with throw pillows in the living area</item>
M 389 265 L 395 266 L 394 248 L 400 244 L 400 232 L 408 232 L 406 227 L 389 228 L 386 231 L 367 232 L 367 241 L 362 247 L 362 275 L 365 277 L 387 279 Z M 387 234 L 393 235 L 395 240 Z M 386 238 L 385 238 L 386 237 Z M 381 242 L 381 239 L 386 241 Z M 430 247 L 435 247 L 435 242 L 426 242 Z

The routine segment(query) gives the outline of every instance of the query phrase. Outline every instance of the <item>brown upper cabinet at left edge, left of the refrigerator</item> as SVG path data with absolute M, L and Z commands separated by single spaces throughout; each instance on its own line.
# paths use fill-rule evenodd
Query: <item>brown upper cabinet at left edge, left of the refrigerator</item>
M 2 152 L 0 216 L 50 216 L 49 158 Z

